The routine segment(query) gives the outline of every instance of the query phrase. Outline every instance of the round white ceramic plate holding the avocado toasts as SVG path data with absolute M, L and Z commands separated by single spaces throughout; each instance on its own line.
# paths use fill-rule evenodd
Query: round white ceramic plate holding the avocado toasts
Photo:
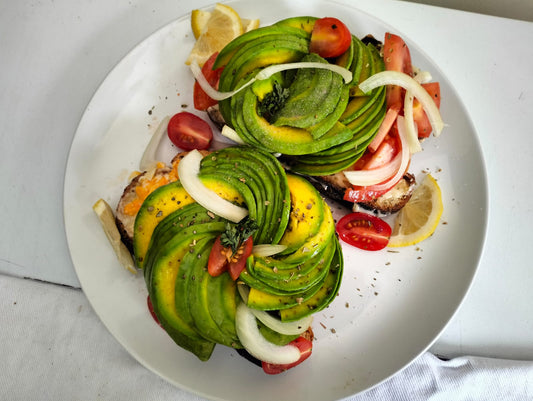
M 267 25 L 288 16 L 336 16 L 358 36 L 383 38 L 383 22 L 326 1 L 230 3 Z M 368 389 L 398 372 L 438 337 L 470 287 L 485 238 L 487 186 L 480 146 L 466 111 L 438 67 L 408 41 L 414 63 L 442 89 L 449 125 L 424 143 L 411 171 L 431 172 L 443 192 L 436 233 L 419 246 L 365 253 L 345 247 L 339 296 L 317 314 L 310 360 L 267 376 L 217 346 L 208 362 L 183 351 L 150 317 L 141 275 L 120 267 L 91 209 L 98 198 L 116 205 L 129 174 L 165 115 L 192 107 L 184 60 L 193 45 L 189 16 L 151 35 L 111 71 L 79 124 L 65 178 L 65 225 L 76 272 L 94 310 L 140 363 L 175 385 L 223 400 L 330 400 Z M 175 149 L 160 149 L 170 160 Z M 445 224 L 446 223 L 446 224 Z M 112 380 L 112 377 L 111 379 Z

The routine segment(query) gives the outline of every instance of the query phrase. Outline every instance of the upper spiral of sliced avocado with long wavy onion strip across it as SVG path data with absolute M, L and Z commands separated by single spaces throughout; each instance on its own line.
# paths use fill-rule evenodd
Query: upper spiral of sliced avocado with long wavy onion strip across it
M 219 102 L 224 120 L 246 144 L 281 153 L 292 171 L 310 176 L 334 174 L 353 165 L 386 111 L 384 87 L 369 94 L 358 88 L 358 83 L 384 69 L 376 45 L 352 35 L 350 48 L 334 60 L 310 54 L 316 19 L 288 18 L 247 32 L 226 45 L 214 65 L 224 67 L 220 91 L 241 87 L 273 64 L 335 63 L 352 72 L 352 81 L 344 83 L 329 70 L 287 70 Z

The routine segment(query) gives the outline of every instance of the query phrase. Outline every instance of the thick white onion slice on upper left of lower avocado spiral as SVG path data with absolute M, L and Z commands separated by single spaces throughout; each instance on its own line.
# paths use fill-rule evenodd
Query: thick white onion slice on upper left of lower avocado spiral
M 248 210 L 221 198 L 202 183 L 198 178 L 202 158 L 199 151 L 192 150 L 178 164 L 178 176 L 183 188 L 207 210 L 238 223 L 248 215 Z

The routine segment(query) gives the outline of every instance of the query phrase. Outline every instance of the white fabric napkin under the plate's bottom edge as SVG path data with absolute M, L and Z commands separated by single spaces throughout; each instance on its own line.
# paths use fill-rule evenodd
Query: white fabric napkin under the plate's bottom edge
M 2 400 L 203 400 L 131 357 L 81 290 L 0 275 L 0 319 Z M 533 361 L 425 353 L 348 400 L 533 400 Z

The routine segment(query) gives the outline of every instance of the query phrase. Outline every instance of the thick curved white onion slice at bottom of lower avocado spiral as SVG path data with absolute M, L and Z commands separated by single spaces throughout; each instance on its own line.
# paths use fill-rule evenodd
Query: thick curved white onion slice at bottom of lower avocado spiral
M 242 302 L 237 306 L 235 329 L 246 351 L 260 361 L 285 365 L 300 359 L 300 350 L 295 345 L 280 346 L 267 341 L 257 327 L 254 314 Z

